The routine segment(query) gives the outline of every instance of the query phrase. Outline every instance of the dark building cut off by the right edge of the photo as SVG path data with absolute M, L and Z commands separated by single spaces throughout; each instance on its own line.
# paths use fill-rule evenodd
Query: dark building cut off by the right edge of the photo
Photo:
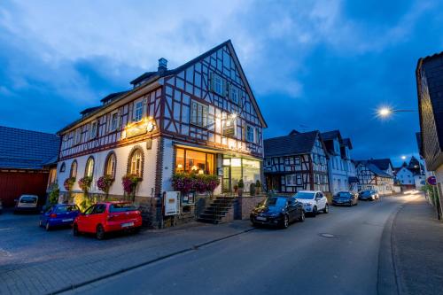
M 443 208 L 443 51 L 419 58 L 416 87 L 420 133 L 417 143 L 426 169 L 437 178 L 440 213 Z

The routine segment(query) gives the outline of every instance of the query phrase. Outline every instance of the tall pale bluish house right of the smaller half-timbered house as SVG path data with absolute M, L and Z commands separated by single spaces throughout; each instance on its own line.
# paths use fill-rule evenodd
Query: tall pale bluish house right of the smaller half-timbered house
M 342 138 L 338 130 L 323 132 L 321 136 L 329 155 L 330 192 L 336 194 L 343 190 L 357 190 L 358 178 L 351 160 L 351 140 Z

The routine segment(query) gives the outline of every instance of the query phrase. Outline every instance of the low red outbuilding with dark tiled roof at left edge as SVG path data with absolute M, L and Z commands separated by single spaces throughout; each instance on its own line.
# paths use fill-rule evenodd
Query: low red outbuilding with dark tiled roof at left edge
M 43 205 L 46 190 L 57 178 L 60 139 L 49 133 L 0 126 L 0 198 L 14 206 L 22 194 L 39 197 Z

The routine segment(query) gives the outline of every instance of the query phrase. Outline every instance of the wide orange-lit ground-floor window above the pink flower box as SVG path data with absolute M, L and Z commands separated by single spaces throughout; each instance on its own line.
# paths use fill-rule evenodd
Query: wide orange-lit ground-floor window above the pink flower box
M 214 175 L 214 154 L 177 148 L 175 172 Z

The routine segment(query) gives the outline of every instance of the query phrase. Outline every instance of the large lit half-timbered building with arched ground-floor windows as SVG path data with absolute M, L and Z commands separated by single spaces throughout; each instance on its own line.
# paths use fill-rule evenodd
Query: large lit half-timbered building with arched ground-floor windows
M 74 176 L 78 193 L 78 180 L 92 176 L 90 193 L 103 196 L 97 179 L 109 175 L 111 198 L 123 198 L 122 177 L 138 175 L 136 203 L 149 209 L 174 190 L 178 172 L 218 175 L 215 194 L 260 179 L 267 125 L 230 41 L 173 70 L 160 58 L 157 71 L 131 84 L 58 132 L 60 184 Z

